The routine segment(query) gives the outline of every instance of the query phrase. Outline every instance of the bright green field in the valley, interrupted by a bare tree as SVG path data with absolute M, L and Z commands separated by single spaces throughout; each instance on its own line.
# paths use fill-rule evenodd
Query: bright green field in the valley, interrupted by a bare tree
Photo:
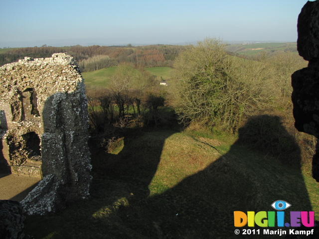
M 83 72 L 82 77 L 86 86 L 89 87 L 98 87 L 98 88 L 109 88 L 111 76 L 116 70 L 116 66 L 110 68 L 104 68 L 97 71 Z M 173 76 L 174 69 L 170 67 L 151 67 L 145 68 L 152 75 L 155 75 L 160 81 L 160 77 L 164 80 L 167 80 Z

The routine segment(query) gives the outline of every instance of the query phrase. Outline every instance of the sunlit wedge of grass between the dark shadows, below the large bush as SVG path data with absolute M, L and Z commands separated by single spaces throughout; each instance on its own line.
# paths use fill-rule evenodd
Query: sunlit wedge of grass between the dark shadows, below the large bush
M 202 141 L 187 133 L 174 133 L 165 140 L 160 163 L 149 185 L 150 197 L 173 188 L 183 179 L 204 170 L 221 155 L 216 141 Z

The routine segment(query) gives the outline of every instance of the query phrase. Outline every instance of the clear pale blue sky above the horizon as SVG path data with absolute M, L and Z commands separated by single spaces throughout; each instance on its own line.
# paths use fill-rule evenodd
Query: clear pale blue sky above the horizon
M 297 41 L 307 0 L 0 0 L 0 47 Z

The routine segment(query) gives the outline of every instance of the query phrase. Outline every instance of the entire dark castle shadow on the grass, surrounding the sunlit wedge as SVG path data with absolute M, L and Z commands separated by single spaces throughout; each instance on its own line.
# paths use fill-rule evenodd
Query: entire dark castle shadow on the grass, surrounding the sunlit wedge
M 162 194 L 149 196 L 165 139 L 175 132 L 134 132 L 124 137 L 117 155 L 94 152 L 92 199 L 69 205 L 51 217 L 34 217 L 29 220 L 33 230 L 27 234 L 36 238 L 246 238 L 234 234 L 234 211 L 274 211 L 270 205 L 276 200 L 292 205 L 286 215 L 290 210 L 311 211 L 300 171 L 300 149 L 279 118 L 270 116 L 252 118 L 239 130 L 239 140 L 204 170 Z M 258 142 L 260 135 L 254 132 L 262 132 L 262 137 L 268 133 L 266 141 Z M 270 149 L 262 146 L 269 138 Z M 263 148 L 264 153 L 248 150 L 242 141 Z M 287 157 L 281 156 L 284 161 L 293 158 L 295 168 L 265 156 L 280 153 L 274 143 L 289 147 Z M 218 150 L 217 145 L 211 147 Z M 39 228 L 44 231 L 36 235 Z

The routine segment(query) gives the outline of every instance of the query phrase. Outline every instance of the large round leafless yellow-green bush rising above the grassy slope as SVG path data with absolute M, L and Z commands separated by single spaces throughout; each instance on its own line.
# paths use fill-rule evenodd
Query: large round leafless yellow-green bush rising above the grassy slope
M 238 58 L 239 59 L 239 58 Z M 235 131 L 240 121 L 272 98 L 266 68 L 227 55 L 217 39 L 189 46 L 175 61 L 174 107 L 181 121 L 200 121 Z

